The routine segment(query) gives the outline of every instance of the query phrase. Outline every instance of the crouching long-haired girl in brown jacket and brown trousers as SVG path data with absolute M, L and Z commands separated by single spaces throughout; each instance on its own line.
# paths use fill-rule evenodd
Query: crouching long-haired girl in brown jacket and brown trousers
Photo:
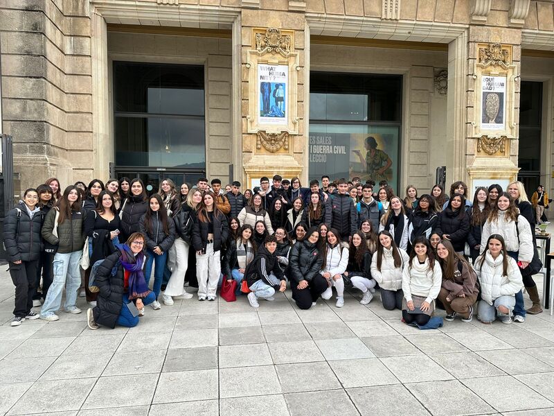
M 438 262 L 443 270 L 438 299 L 446 309 L 447 321 L 453 321 L 460 315 L 463 322 L 472 322 L 473 305 L 479 294 L 479 282 L 470 263 L 454 252 L 452 243 L 440 241 L 437 245 Z

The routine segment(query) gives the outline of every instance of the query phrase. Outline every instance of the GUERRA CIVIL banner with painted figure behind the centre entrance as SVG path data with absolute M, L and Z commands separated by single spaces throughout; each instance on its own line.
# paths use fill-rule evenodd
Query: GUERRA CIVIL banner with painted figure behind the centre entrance
M 369 130 L 368 133 L 318 133 L 310 129 L 310 180 L 321 180 L 322 175 L 329 175 L 332 180 L 359 176 L 361 182 L 372 179 L 379 184 L 386 180 L 396 189 L 398 128 L 379 126 Z

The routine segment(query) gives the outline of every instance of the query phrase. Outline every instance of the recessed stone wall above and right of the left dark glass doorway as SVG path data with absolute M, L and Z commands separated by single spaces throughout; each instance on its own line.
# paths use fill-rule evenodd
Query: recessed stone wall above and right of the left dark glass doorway
M 231 161 L 231 39 L 109 32 L 108 58 L 206 64 L 206 171 L 229 182 Z M 111 116 L 109 117 L 111 120 Z M 111 121 L 110 121 L 111 122 Z M 113 129 L 111 129 L 113 131 Z M 236 143 L 239 146 L 238 143 Z M 113 151 L 111 160 L 114 160 Z

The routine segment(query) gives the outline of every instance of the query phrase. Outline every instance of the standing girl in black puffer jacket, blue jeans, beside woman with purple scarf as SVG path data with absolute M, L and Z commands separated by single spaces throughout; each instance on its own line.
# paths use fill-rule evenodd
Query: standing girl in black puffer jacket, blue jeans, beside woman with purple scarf
M 156 300 L 150 306 L 152 306 L 152 309 L 157 310 L 161 308 L 158 297 L 161 291 L 163 270 L 166 268 L 168 252 L 175 242 L 175 223 L 168 217 L 166 206 L 163 205 L 161 196 L 156 193 L 148 198 L 148 209 L 141 217 L 140 230 L 141 234 L 145 237 L 146 252 L 148 254 L 144 268 L 146 284 L 148 284 L 150 275 L 152 275 L 152 264 L 154 261 L 156 263 L 154 268 L 154 285 L 152 286 Z

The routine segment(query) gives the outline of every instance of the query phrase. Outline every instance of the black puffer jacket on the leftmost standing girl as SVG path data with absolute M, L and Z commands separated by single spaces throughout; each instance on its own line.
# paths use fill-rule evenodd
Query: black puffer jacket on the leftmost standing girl
M 39 210 L 30 218 L 24 202 L 11 209 L 4 218 L 4 247 L 8 261 L 34 261 L 40 257 L 40 229 L 46 213 Z

